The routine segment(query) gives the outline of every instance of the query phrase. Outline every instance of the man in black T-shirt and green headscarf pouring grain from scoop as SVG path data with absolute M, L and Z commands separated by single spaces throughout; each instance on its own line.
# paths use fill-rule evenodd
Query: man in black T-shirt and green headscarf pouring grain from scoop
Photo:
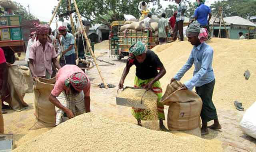
M 146 90 L 153 90 L 153 92 L 158 96 L 157 108 L 160 129 L 167 130 L 163 124 L 163 120 L 165 120 L 164 105 L 159 102 L 162 98 L 162 88 L 159 79 L 166 74 L 164 65 L 158 56 L 153 51 L 148 50 L 145 44 L 141 41 L 132 45 L 129 49 L 129 53 L 130 56 L 119 82 L 119 88 L 124 88 L 124 80 L 129 73 L 130 68 L 135 65 L 136 76 L 134 80 L 134 87 L 143 87 Z M 141 120 L 150 120 L 150 112 L 148 112 L 148 110 L 132 108 L 132 115 L 137 119 L 139 126 L 142 126 Z

